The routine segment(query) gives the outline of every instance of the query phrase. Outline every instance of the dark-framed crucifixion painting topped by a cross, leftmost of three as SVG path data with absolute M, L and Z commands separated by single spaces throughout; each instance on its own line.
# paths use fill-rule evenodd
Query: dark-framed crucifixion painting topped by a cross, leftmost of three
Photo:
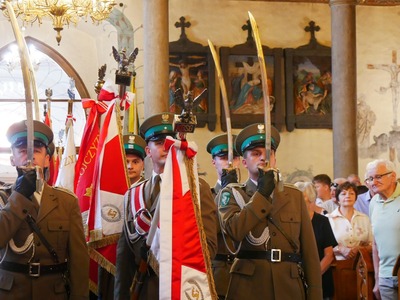
M 174 97 L 180 89 L 184 99 L 193 97 L 197 127 L 207 125 L 213 131 L 216 126 L 215 66 L 209 48 L 187 38 L 185 28 L 190 26 L 190 22 L 181 17 L 175 23 L 175 27 L 181 29 L 180 38 L 169 43 L 168 108 L 172 113 L 182 113 L 184 103 L 179 97 Z

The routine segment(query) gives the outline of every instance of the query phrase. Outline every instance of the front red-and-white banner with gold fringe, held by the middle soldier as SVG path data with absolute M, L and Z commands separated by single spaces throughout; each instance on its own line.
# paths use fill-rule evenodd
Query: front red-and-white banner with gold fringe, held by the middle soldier
M 159 199 L 162 231 L 150 248 L 159 262 L 159 299 L 212 299 L 215 291 L 198 200 L 197 146 L 167 137 L 165 147 L 169 152 Z

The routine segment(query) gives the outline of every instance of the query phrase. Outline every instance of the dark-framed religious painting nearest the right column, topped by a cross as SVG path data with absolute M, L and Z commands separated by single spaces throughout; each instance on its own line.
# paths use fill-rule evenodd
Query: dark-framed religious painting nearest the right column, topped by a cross
M 285 49 L 286 127 L 332 128 L 331 49 L 315 39 L 318 26 L 311 21 L 310 43 Z

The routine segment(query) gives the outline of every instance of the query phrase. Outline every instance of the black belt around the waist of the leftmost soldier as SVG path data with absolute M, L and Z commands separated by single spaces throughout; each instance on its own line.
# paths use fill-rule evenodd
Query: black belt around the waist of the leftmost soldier
M 63 273 L 67 270 L 67 263 L 57 265 L 41 265 L 40 263 L 18 264 L 10 261 L 3 261 L 0 264 L 0 269 L 27 274 L 32 277 L 40 275 Z

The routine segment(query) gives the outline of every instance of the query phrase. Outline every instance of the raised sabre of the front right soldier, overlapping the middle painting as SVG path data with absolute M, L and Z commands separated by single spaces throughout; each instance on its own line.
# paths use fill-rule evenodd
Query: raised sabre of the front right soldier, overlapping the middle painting
M 271 159 L 271 111 L 270 111 L 271 107 L 269 102 L 268 75 L 264 60 L 264 52 L 261 45 L 260 34 L 258 33 L 257 23 L 252 13 L 248 12 L 248 14 L 251 23 L 251 28 L 253 29 L 254 41 L 257 48 L 258 62 L 260 63 L 261 82 L 262 82 L 263 100 L 264 100 L 265 150 L 266 150 L 266 163 L 268 168 Z

